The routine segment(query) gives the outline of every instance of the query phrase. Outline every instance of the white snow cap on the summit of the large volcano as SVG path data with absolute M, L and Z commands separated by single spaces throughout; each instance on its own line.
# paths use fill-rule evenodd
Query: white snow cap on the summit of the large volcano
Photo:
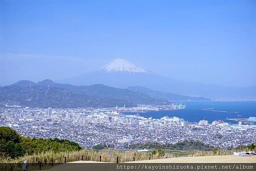
M 148 71 L 136 67 L 134 64 L 126 61 L 125 59 L 115 59 L 102 67 L 101 69 L 106 70 L 107 72 L 129 72 L 129 73 L 146 73 Z M 100 70 L 101 70 L 100 69 Z

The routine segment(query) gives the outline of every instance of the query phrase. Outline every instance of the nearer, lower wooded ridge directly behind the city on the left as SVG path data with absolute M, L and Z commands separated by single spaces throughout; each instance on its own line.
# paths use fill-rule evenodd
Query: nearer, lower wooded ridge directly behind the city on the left
M 0 95 L 0 102 L 3 104 L 9 103 L 28 107 L 113 107 L 113 104 L 126 104 L 132 107 L 135 105 L 128 101 L 90 97 L 58 87 L 48 89 L 38 85 L 23 88 L 15 85 L 5 86 L 0 89 Z

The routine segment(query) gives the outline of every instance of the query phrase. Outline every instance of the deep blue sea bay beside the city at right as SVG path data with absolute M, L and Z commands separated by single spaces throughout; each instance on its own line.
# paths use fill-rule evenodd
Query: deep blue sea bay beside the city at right
M 153 119 L 159 119 L 163 116 L 177 116 L 189 122 L 199 122 L 200 120 L 205 119 L 208 120 L 209 123 L 212 123 L 212 121 L 215 120 L 218 121 L 220 119 L 230 124 L 237 124 L 238 122 L 227 120 L 227 118 L 249 118 L 250 116 L 256 116 L 256 101 L 189 101 L 186 102 L 186 106 L 186 109 L 182 110 L 161 110 L 155 112 L 139 113 L 139 115 L 145 118 L 152 117 Z M 213 108 L 210 110 L 238 113 L 202 110 L 208 108 Z

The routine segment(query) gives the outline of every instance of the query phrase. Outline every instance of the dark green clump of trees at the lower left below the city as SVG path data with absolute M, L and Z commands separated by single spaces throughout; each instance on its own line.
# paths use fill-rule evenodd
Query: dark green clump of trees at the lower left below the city
M 0 127 L 1 157 L 17 158 L 44 151 L 78 151 L 81 147 L 67 139 L 35 139 L 20 136 L 9 127 Z

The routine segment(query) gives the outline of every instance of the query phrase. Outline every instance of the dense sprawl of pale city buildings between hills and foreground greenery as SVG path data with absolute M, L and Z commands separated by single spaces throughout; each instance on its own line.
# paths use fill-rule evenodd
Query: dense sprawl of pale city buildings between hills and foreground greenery
M 143 107 L 133 108 L 142 110 Z M 158 107 L 144 107 L 157 110 Z M 256 125 L 230 125 L 221 120 L 208 123 L 184 121 L 178 117 L 160 119 L 124 115 L 128 108 L 29 108 L 2 107 L 0 126 L 15 129 L 21 136 L 69 139 L 90 149 L 104 144 L 117 150 L 145 142 L 161 144 L 200 140 L 214 147 L 231 148 L 256 143 Z M 175 109 L 174 109 L 175 110 Z M 182 110 L 182 108 L 181 108 Z M 135 113 L 136 114 L 136 113 Z M 255 117 L 250 117 L 255 119 Z

